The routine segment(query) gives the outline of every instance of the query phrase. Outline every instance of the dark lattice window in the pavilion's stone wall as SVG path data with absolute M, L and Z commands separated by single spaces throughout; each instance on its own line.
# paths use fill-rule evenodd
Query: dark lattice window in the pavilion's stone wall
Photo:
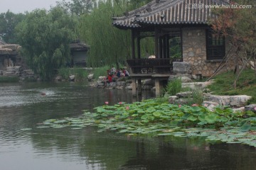
M 225 57 L 225 37 L 217 35 L 213 30 L 206 30 L 207 60 L 223 60 Z

